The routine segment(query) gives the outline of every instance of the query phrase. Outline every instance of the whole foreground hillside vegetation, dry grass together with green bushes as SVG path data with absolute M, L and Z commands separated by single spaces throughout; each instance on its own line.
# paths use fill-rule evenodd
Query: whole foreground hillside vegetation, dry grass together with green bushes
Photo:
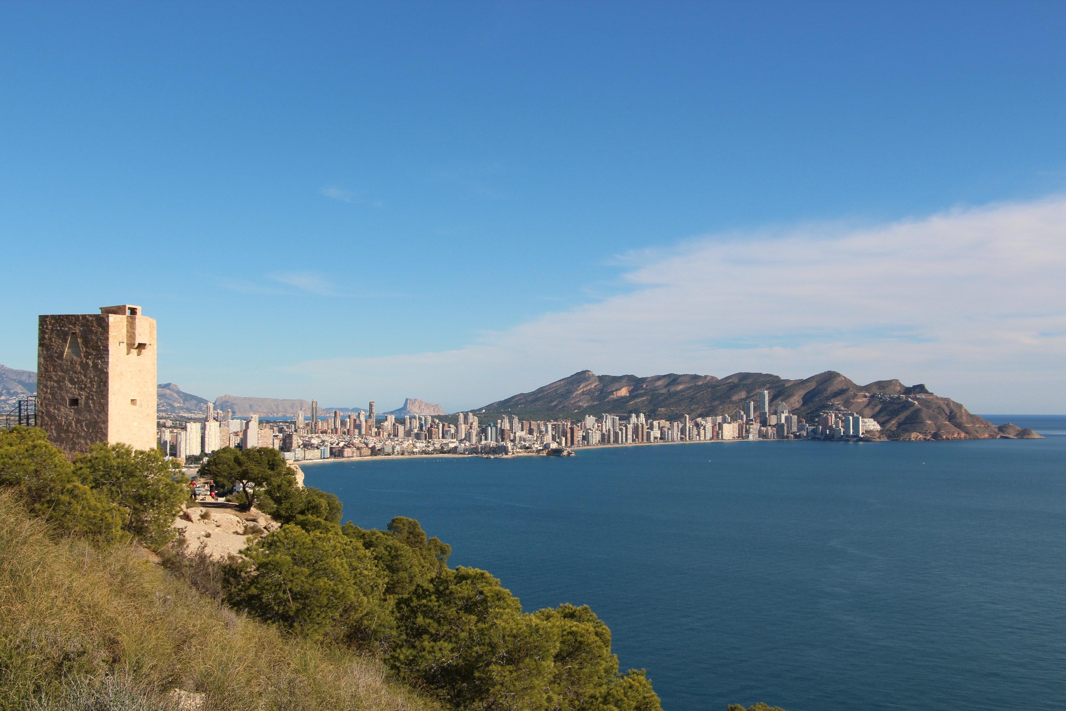
M 178 690 L 203 709 L 660 711 L 587 607 L 522 612 L 413 519 L 341 527 L 274 450 L 211 467 L 281 523 L 226 562 L 174 540 L 183 486 L 158 452 L 71 463 L 0 430 L 0 709 L 162 709 Z

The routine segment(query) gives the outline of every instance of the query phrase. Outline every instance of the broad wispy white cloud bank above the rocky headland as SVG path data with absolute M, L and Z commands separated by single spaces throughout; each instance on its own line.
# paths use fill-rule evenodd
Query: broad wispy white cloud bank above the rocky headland
M 924 382 L 973 409 L 1066 399 L 1066 198 L 623 255 L 628 290 L 466 348 L 295 368 L 339 395 L 469 407 L 575 371 Z

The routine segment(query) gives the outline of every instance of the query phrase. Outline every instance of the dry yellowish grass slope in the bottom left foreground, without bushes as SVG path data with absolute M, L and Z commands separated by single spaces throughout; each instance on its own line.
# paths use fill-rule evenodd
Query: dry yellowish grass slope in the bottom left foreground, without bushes
M 433 708 L 376 660 L 284 636 L 133 549 L 50 537 L 0 491 L 0 709 L 165 709 L 174 689 L 205 710 Z

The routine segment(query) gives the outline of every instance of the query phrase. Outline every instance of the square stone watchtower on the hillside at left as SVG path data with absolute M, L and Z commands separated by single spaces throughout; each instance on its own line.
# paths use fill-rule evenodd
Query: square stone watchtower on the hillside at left
M 140 306 L 42 316 L 37 424 L 68 455 L 96 442 L 156 447 L 156 320 Z

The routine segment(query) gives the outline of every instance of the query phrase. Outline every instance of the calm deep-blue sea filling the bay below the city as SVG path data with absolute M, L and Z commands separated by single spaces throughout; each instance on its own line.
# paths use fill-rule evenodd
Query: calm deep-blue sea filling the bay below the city
M 668 711 L 1066 708 L 1066 417 L 1043 440 L 308 466 L 526 610 L 587 603 Z

